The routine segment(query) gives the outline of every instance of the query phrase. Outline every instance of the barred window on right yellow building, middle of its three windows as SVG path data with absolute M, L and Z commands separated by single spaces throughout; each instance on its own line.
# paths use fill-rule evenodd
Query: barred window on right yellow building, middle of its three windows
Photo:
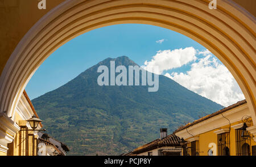
M 219 156 L 229 156 L 229 132 L 218 134 L 218 155 Z

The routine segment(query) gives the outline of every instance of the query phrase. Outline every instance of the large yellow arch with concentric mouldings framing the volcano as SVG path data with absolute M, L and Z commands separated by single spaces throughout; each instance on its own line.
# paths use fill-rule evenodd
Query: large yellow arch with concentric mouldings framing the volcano
M 199 42 L 229 69 L 256 122 L 255 18 L 231 0 L 67 0 L 26 33 L 0 78 L 0 112 L 11 116 L 23 89 L 42 62 L 65 42 L 92 29 L 126 23 L 171 29 Z

